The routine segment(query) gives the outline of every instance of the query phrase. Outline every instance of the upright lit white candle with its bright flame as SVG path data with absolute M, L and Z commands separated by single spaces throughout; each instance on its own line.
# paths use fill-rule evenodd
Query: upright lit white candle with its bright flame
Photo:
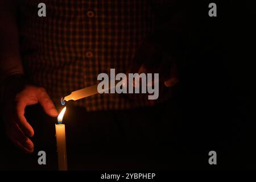
M 55 124 L 59 171 L 67 171 L 68 169 L 65 125 L 61 124 L 65 110 L 66 107 L 64 107 L 63 110 L 61 110 L 57 118 L 59 124 Z

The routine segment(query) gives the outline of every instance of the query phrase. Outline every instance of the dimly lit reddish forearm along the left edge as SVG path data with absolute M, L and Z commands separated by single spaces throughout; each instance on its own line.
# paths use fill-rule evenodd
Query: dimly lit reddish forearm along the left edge
M 0 22 L 0 84 L 2 84 L 7 77 L 23 73 L 13 1 L 0 1 Z

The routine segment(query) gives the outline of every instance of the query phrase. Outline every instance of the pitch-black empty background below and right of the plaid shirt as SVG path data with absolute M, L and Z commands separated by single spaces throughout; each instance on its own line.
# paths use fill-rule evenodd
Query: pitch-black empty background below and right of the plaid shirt
M 92 113 L 68 106 L 69 169 L 255 169 L 256 4 L 214 2 L 213 18 L 210 2 L 187 5 L 192 28 L 175 45 L 181 77 L 170 101 Z M 35 152 L 17 150 L 1 126 L 0 169 L 57 169 L 56 118 L 40 106 L 26 113 Z M 37 163 L 40 150 L 46 151 L 46 166 Z M 208 164 L 211 150 L 217 152 L 216 166 Z

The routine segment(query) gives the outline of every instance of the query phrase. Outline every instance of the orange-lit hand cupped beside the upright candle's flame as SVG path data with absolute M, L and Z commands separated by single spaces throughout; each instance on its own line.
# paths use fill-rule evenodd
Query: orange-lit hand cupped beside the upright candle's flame
M 34 144 L 28 137 L 34 135 L 34 130 L 24 117 L 26 106 L 39 103 L 51 117 L 58 115 L 57 110 L 46 90 L 32 85 L 24 85 L 20 89 L 18 85 L 9 84 L 6 87 L 5 98 L 3 121 L 7 137 L 24 152 L 32 153 Z

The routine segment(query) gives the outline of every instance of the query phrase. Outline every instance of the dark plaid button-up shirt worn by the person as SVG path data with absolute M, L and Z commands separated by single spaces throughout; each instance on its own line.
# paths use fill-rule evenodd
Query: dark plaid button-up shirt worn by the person
M 46 17 L 38 4 L 46 4 Z M 53 102 L 97 83 L 99 73 L 125 73 L 136 49 L 154 32 L 153 1 L 20 0 L 23 68 Z M 97 94 L 73 102 L 88 111 L 152 105 L 140 94 Z M 153 101 L 154 102 L 154 101 Z M 158 101 L 157 101 L 158 102 Z

